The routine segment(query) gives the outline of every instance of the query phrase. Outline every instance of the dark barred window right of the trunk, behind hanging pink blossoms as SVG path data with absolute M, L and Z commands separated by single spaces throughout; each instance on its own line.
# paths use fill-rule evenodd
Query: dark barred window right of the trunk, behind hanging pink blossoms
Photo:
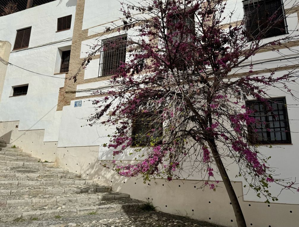
M 259 101 L 248 101 L 246 106 L 255 112 L 251 116 L 260 123 L 248 127 L 252 144 L 291 143 L 286 99 L 271 99 L 268 105 Z

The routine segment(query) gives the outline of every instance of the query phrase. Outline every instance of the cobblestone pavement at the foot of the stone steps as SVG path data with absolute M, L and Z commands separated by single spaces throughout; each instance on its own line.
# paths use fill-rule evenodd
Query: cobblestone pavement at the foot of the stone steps
M 0 227 L 223 227 L 158 211 L 110 212 L 1 223 Z

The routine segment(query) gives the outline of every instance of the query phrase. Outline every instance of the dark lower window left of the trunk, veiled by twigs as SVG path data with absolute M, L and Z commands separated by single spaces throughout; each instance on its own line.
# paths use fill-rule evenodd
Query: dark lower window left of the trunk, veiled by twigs
M 145 147 L 150 145 L 151 137 L 147 136 L 145 133 L 152 129 L 156 129 L 155 133 L 158 132 L 156 135 L 154 133 L 153 139 L 159 139 L 159 137 L 163 136 L 163 122 L 155 122 L 154 125 L 150 124 L 152 123 L 151 119 L 153 116 L 155 115 L 150 113 L 140 113 L 139 118 L 132 122 L 132 147 Z M 147 119 L 149 120 L 147 121 Z M 158 128 L 161 128 L 162 130 L 159 131 Z M 155 145 L 161 144 L 161 142 L 162 140 L 159 140 Z

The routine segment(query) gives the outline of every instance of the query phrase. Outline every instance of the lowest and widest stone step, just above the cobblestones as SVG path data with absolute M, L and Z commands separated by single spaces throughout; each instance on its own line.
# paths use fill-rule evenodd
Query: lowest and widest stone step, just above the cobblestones
M 145 203 L 133 199 L 98 200 L 89 203 L 70 203 L 69 205 L 18 206 L 0 208 L 1 222 L 32 220 L 55 216 L 77 216 L 80 214 L 97 214 L 137 210 Z

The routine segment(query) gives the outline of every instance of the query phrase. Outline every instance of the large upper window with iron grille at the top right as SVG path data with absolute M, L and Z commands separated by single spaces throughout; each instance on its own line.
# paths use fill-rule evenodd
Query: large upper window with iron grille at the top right
M 287 33 L 282 0 L 243 1 L 248 41 Z

